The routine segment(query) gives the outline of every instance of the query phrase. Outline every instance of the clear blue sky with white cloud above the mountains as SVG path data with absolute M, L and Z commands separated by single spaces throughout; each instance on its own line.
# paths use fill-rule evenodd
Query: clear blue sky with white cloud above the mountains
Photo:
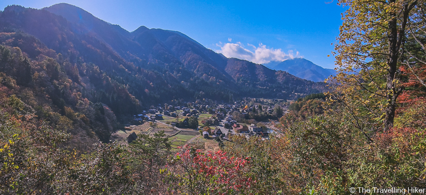
M 327 55 L 344 11 L 337 0 L 2 0 L 0 8 L 16 4 L 40 9 L 57 3 L 78 6 L 128 31 L 141 25 L 177 30 L 227 57 L 256 63 L 303 57 L 325 68 L 334 68 L 334 58 Z

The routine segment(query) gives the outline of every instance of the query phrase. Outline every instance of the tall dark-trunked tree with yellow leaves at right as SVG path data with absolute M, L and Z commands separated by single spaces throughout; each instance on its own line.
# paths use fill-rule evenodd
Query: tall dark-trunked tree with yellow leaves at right
M 393 127 L 397 99 L 405 89 L 400 67 L 407 23 L 418 2 L 339 1 L 349 9 L 335 46 L 339 74 L 334 81 L 339 86 L 333 97 L 343 100 L 361 130 L 368 124 L 384 131 Z

